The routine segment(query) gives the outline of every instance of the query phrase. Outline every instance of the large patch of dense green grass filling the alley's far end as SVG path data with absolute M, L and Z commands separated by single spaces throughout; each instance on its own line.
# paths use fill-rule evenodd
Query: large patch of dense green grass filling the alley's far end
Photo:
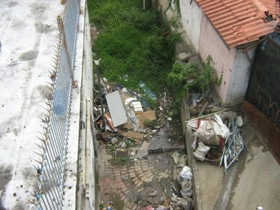
M 167 86 L 178 34 L 158 10 L 142 10 L 141 0 L 89 0 L 90 22 L 101 34 L 93 50 L 102 74 L 114 83 L 138 87 L 141 80 L 158 94 Z

